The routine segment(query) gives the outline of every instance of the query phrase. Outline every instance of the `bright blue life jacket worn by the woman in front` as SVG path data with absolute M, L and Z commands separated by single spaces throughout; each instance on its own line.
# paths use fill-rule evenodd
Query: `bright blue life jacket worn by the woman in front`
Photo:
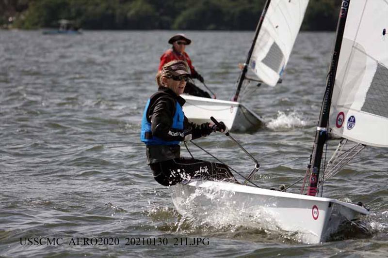
M 144 142 L 146 145 L 176 145 L 179 144 L 180 141 L 165 141 L 159 137 L 153 136 L 151 131 L 151 122 L 147 119 L 147 110 L 151 99 L 148 99 L 146 107 L 143 112 L 142 119 L 142 131 L 140 133 L 140 140 Z M 183 130 L 183 121 L 184 121 L 184 113 L 182 110 L 182 106 L 179 105 L 177 101 L 177 105 L 175 107 L 175 114 L 173 118 L 172 128 Z

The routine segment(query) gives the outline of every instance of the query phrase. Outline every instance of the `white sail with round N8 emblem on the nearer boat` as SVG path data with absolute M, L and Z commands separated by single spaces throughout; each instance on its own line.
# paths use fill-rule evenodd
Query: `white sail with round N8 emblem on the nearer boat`
M 340 137 L 388 147 L 388 1 L 351 0 L 330 112 Z

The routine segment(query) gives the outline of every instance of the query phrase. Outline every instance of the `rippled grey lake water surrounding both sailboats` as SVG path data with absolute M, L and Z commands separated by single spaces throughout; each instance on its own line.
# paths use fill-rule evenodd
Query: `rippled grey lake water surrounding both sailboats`
M 351 225 L 327 243 L 300 243 L 292 232 L 225 218 L 182 221 L 169 189 L 153 180 L 139 141 L 146 100 L 157 89 L 159 58 L 176 32 L 0 31 L 0 255 L 386 257 L 386 149 L 366 148 L 326 183 L 324 197 L 362 201 L 372 211 L 361 219 L 363 227 Z M 186 50 L 207 86 L 219 99 L 230 99 L 253 32 L 186 33 L 193 40 Z M 266 125 L 233 136 L 259 160 L 255 182 L 263 187 L 304 176 L 334 36 L 300 33 L 283 83 L 244 98 Z M 254 165 L 224 135 L 196 142 L 246 174 Z M 189 148 L 195 157 L 211 159 Z M 208 244 L 189 245 L 197 237 Z M 133 245 L 136 238 L 167 243 Z

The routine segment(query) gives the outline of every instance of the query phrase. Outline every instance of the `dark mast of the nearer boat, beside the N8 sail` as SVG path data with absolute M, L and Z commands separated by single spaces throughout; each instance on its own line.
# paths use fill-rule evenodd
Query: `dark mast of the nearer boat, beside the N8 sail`
M 327 123 L 329 120 L 331 96 L 335 83 L 337 65 L 339 60 L 339 52 L 341 50 L 343 31 L 345 30 L 346 17 L 349 10 L 350 0 L 342 0 L 341 10 L 339 11 L 339 20 L 337 24 L 337 36 L 334 46 L 333 57 L 330 63 L 330 70 L 326 80 L 326 90 L 323 96 L 321 113 L 315 134 L 314 149 L 312 154 L 312 171 L 310 175 L 310 184 L 307 188 L 307 195 L 315 196 L 317 194 L 317 186 L 319 180 L 319 171 L 321 167 L 323 146 L 327 139 Z

